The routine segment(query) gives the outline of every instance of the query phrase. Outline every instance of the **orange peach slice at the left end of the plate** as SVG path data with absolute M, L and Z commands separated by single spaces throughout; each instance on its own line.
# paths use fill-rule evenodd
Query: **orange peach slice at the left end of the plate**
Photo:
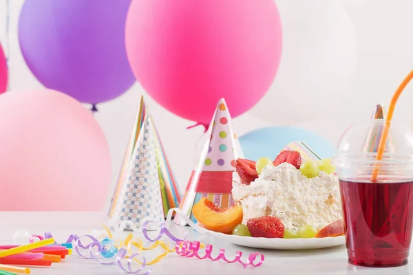
M 231 234 L 236 225 L 242 223 L 241 206 L 219 208 L 212 201 L 202 198 L 192 208 L 195 219 L 207 230 Z

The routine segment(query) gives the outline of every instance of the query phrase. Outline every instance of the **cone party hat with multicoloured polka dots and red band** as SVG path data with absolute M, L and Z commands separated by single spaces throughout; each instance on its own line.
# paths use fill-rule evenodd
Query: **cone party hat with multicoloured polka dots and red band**
M 203 197 L 222 208 L 234 204 L 232 174 L 235 160 L 244 157 L 224 98 L 217 104 L 207 133 L 209 140 L 198 157 L 179 207 L 195 223 L 192 207 Z M 173 221 L 186 225 L 179 215 Z

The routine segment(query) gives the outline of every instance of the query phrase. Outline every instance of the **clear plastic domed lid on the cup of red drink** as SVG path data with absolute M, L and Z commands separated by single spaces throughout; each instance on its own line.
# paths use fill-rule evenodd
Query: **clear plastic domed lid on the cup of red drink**
M 380 162 L 384 170 L 413 169 L 413 131 L 407 126 L 391 122 L 383 159 L 377 161 L 377 149 L 385 120 L 365 120 L 350 126 L 341 135 L 333 162 L 337 171 L 352 166 L 372 167 Z

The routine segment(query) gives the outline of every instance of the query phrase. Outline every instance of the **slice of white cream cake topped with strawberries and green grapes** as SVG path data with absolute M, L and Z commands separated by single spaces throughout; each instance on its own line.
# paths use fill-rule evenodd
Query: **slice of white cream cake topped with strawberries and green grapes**
M 274 162 L 237 159 L 235 167 L 232 194 L 242 206 L 244 224 L 272 216 L 297 233 L 306 225 L 321 230 L 343 218 L 339 181 L 329 159 L 301 163 L 299 152 L 283 151 Z

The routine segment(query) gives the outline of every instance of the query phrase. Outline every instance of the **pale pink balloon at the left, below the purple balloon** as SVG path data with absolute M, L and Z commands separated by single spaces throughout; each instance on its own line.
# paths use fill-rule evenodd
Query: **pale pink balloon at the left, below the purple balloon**
M 111 159 L 92 113 L 57 91 L 0 96 L 0 211 L 98 211 Z

